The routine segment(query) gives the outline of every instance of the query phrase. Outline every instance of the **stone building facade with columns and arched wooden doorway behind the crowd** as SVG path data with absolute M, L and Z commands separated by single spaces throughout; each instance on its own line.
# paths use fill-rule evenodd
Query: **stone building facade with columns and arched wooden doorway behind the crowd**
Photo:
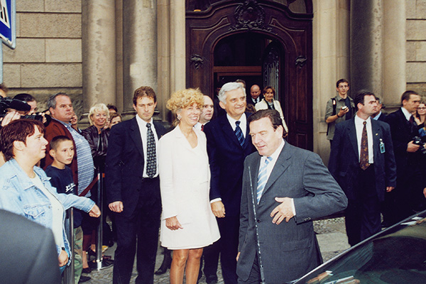
M 236 78 L 273 85 L 290 142 L 328 160 L 324 110 L 335 82 L 371 89 L 385 111 L 400 94 L 426 94 L 423 0 L 16 0 L 16 49 L 3 48 L 9 94 L 45 108 L 70 94 L 82 119 L 92 104 L 133 115 L 133 90 L 165 102 L 185 87 L 214 96 Z

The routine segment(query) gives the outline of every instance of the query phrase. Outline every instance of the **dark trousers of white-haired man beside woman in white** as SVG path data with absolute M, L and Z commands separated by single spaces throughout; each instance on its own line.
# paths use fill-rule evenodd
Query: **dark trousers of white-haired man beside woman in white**
M 220 231 L 220 263 L 225 284 L 236 284 L 236 255 L 239 241 L 239 217 L 217 218 Z

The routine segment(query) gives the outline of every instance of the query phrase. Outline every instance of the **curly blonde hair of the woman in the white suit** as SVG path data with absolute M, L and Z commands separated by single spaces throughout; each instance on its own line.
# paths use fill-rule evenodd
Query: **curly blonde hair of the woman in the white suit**
M 180 91 L 174 92 L 170 99 L 168 99 L 165 107 L 170 109 L 173 114 L 176 114 L 180 109 L 185 109 L 185 107 L 192 106 L 192 104 L 197 104 L 200 108 L 204 105 L 204 94 L 202 94 L 198 88 L 181 89 Z M 177 121 L 175 120 L 173 124 L 176 125 Z

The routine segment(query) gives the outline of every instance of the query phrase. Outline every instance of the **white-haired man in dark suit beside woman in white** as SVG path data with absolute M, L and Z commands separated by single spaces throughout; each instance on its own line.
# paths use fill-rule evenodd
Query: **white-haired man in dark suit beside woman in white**
M 204 127 L 209 154 L 210 202 L 216 216 L 222 275 L 226 284 L 237 283 L 236 253 L 238 252 L 239 212 L 243 164 L 254 148 L 249 136 L 246 92 L 241 84 L 229 82 L 219 92 L 219 104 L 226 115 L 213 119 Z M 214 281 L 212 281 L 214 282 Z

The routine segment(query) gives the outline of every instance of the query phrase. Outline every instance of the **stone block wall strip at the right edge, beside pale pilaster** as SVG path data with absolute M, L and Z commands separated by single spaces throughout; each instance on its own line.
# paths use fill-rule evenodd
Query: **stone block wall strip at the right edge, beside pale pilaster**
M 407 89 L 426 98 L 426 0 L 405 0 Z

